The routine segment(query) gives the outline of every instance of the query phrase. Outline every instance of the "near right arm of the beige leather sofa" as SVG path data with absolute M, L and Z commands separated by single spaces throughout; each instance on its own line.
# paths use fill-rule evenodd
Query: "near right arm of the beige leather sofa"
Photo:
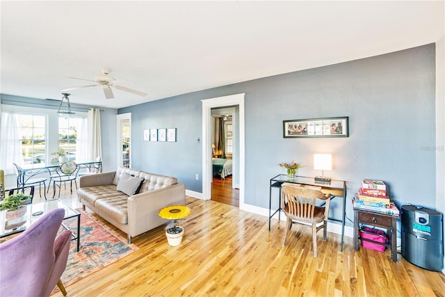
M 172 184 L 128 198 L 128 235 L 133 237 L 163 225 L 167 220 L 158 211 L 170 205 L 186 204 L 186 185 Z

